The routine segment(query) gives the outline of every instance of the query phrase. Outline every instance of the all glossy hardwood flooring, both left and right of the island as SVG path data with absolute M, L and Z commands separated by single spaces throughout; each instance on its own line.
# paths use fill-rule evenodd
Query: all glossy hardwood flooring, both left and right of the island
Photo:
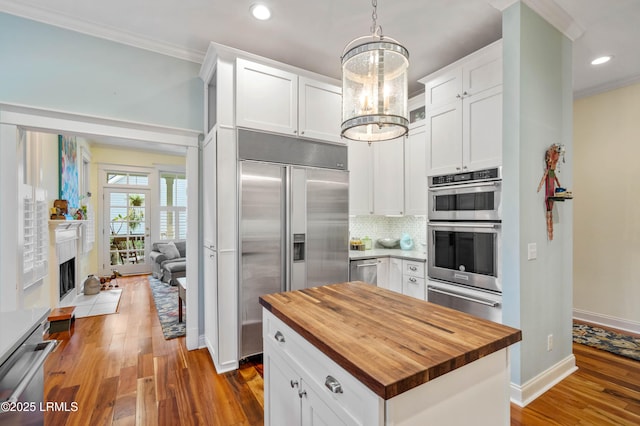
M 261 425 L 261 365 L 217 375 L 206 350 L 164 340 L 146 276 L 119 278 L 119 313 L 76 320 L 45 364 L 47 425 Z M 573 345 L 579 370 L 511 424 L 638 425 L 640 362 Z M 72 411 L 72 402 L 78 410 Z

